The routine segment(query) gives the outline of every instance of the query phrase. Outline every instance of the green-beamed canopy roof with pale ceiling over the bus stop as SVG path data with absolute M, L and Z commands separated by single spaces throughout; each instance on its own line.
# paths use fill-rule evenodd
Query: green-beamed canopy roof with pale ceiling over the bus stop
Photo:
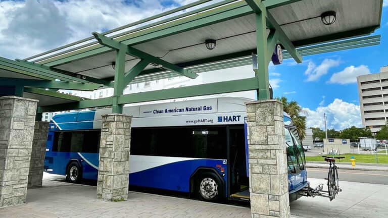
M 201 0 L 24 60 L 0 58 L 0 86 L 19 87 L 25 96 L 40 98 L 40 106 L 58 104 L 43 111 L 268 89 L 268 81 L 262 81 L 268 80 L 266 55 L 272 55 L 274 43 L 282 45 L 283 58 L 297 62 L 302 56 L 377 45 L 380 35 L 367 35 L 380 27 L 381 10 L 382 0 Z M 328 11 L 336 13 L 332 25 L 321 21 Z M 206 39 L 215 39 L 216 47 L 207 49 Z M 119 51 L 125 70 L 121 63 L 119 69 L 112 66 L 121 60 Z M 250 65 L 258 52 L 260 78 L 122 95 L 129 83 L 181 75 L 193 79 Z M 85 100 L 55 92 L 101 87 L 114 87 L 115 96 Z

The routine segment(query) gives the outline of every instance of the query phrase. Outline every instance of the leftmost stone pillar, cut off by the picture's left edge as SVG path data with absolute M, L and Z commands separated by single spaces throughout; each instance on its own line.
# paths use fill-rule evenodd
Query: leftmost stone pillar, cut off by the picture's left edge
M 0 97 L 0 207 L 26 201 L 37 101 Z

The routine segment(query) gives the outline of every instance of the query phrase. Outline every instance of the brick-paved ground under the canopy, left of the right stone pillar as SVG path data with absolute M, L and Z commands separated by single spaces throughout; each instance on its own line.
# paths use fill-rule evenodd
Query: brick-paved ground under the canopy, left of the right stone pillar
M 251 217 L 250 208 L 129 192 L 128 200 L 96 199 L 96 187 L 43 181 L 28 189 L 27 204 L 0 209 L 0 217 Z

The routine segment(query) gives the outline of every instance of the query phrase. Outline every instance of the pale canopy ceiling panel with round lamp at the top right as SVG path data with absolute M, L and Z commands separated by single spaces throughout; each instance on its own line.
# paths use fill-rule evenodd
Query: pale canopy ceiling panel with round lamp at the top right
M 365 0 L 304 0 L 270 9 L 291 41 L 299 41 L 380 24 L 376 12 L 380 1 Z M 324 25 L 320 15 L 327 11 L 336 12 L 336 21 Z

